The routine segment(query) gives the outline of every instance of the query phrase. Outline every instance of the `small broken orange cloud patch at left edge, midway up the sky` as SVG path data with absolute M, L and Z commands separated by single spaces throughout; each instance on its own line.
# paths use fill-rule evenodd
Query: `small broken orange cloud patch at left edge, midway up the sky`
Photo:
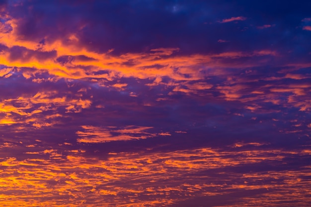
M 57 112 L 60 107 L 65 107 L 66 113 L 79 113 L 89 108 L 92 101 L 82 99 L 79 94 L 68 98 L 57 91 L 39 91 L 34 95 L 23 94 L 17 98 L 4 99 L 0 102 L 0 123 L 12 125 L 16 123 L 31 124 L 33 127 L 42 128 L 53 126 L 53 121 L 64 115 L 53 114 L 42 116 L 43 112 Z

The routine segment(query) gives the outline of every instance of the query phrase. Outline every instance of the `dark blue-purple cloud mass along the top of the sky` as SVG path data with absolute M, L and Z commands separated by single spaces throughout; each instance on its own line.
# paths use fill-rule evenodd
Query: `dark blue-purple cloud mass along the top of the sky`
M 310 2 L 279 1 L 31 1 L 10 9 L 22 22 L 26 39 L 62 39 L 71 34 L 90 50 L 114 54 L 179 47 L 183 53 L 220 53 L 262 49 L 290 50 L 308 41 L 299 27 Z M 245 21 L 219 24 L 243 16 Z M 258 26 L 274 25 L 265 30 Z M 298 27 L 298 28 L 297 28 Z M 218 40 L 227 40 L 220 44 Z M 309 47 L 300 46 L 297 52 Z

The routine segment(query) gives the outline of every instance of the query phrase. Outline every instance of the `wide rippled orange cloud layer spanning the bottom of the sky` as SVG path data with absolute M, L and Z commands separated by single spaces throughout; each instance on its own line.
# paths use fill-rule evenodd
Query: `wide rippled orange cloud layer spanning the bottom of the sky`
M 262 144 L 241 145 L 260 147 Z M 0 171 L 0 202 L 5 202 L 8 207 L 16 204 L 25 207 L 34 204 L 61 207 L 74 207 L 78 204 L 94 206 L 98 202 L 107 206 L 118 203 L 119 207 L 137 207 L 138 203 L 142 207 L 156 207 L 159 204 L 169 206 L 193 196 L 226 195 L 238 189 L 282 189 L 259 195 L 263 197 L 261 202 L 269 203 L 272 198 L 283 198 L 284 194 L 292 198 L 292 192 L 301 192 L 299 189 L 310 184 L 307 168 L 300 171 L 228 171 L 228 167 L 231 166 L 238 167 L 268 160 L 281 162 L 286 155 L 309 153 L 306 150 L 293 152 L 258 148 L 248 151 L 242 148 L 237 147 L 235 149 L 241 150 L 235 151 L 196 148 L 161 153 L 120 152 L 110 153 L 104 160 L 83 156 L 85 152 L 78 150 L 68 151 L 69 154 L 64 156 L 55 149 L 40 151 L 40 159 L 8 157 L 0 160 L 0 166 L 5 168 Z M 42 154 L 47 154 L 50 158 L 62 156 L 63 159 L 46 159 Z M 35 154 L 27 153 L 27 156 Z M 209 176 L 202 178 L 200 172 L 211 169 L 219 171 L 219 178 L 213 177 L 213 171 Z M 224 169 L 227 171 L 222 171 Z M 225 177 L 222 177 L 222 173 Z M 228 180 L 233 178 L 235 182 L 228 183 Z M 166 182 L 167 180 L 170 182 Z M 279 182 L 280 180 L 284 182 Z M 9 193 L 16 189 L 24 194 Z M 307 192 L 298 196 L 305 198 Z M 182 198 L 179 195 L 182 195 Z M 86 198 L 92 203 L 87 203 Z M 67 200 L 66 204 L 63 203 L 64 199 Z

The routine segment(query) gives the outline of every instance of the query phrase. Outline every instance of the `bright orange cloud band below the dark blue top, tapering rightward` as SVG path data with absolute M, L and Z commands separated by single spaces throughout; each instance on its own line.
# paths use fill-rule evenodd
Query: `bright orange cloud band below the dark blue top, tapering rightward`
M 223 20 L 229 22 L 233 20 L 244 20 L 245 17 L 232 17 Z M 135 77 L 140 79 L 170 77 L 173 80 L 204 80 L 202 76 L 202 66 L 208 68 L 224 68 L 230 64 L 222 63 L 215 58 L 236 59 L 252 56 L 275 56 L 273 51 L 254 51 L 247 54 L 242 52 L 221 53 L 214 55 L 176 56 L 178 48 L 158 48 L 147 53 L 127 53 L 112 56 L 109 53 L 95 53 L 78 46 L 74 38 L 73 42 L 63 43 L 61 40 L 46 42 L 38 49 L 37 42 L 23 40 L 16 33 L 18 22 L 8 21 L 12 26 L 9 33 L 1 33 L 0 43 L 7 49 L 0 54 L 0 61 L 9 68 L 33 68 L 33 71 L 20 70 L 26 78 L 33 78 L 34 82 L 47 81 L 34 78 L 36 73 L 48 72 L 55 78 L 96 78 L 103 80 L 113 80 L 120 77 Z M 16 47 L 22 48 L 22 54 L 12 59 L 12 50 Z M 55 57 L 51 55 L 55 55 Z M 256 64 L 255 64 L 256 65 Z M 232 65 L 230 65 L 232 67 Z M 241 65 L 239 67 L 242 67 Z M 246 66 L 245 66 L 246 67 Z M 107 71 L 99 73 L 99 71 Z M 9 69 L 3 71 L 3 75 L 8 74 Z M 53 79 L 54 78 L 54 79 Z M 118 83 L 119 84 L 119 83 Z M 105 84 L 102 84 L 105 85 Z M 120 85 L 114 85 L 114 87 Z M 123 88 L 123 87 L 121 87 Z

